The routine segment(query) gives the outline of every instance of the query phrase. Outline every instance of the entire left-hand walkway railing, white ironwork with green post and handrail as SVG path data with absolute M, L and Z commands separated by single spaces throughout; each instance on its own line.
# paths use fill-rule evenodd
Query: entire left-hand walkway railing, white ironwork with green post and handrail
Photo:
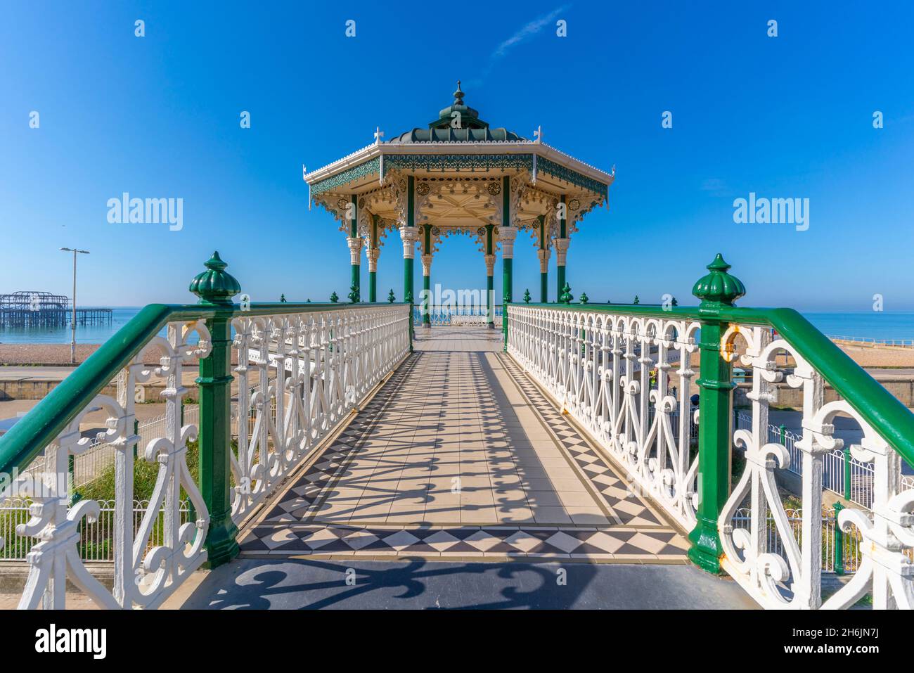
M 238 524 L 409 353 L 409 304 L 232 304 L 240 286 L 226 263 L 214 253 L 206 266 L 190 285 L 198 304 L 143 307 L 0 438 L 0 499 L 28 501 L 30 518 L 16 525 L 16 536 L 37 540 L 26 556 L 20 608 L 65 607 L 68 580 L 100 607 L 153 608 L 204 563 L 229 561 L 238 553 Z M 163 328 L 166 337 L 158 336 Z M 158 366 L 145 364 L 154 358 Z M 199 422 L 182 424 L 183 375 L 197 359 Z M 153 375 L 165 379 L 166 428 L 143 445 L 132 393 Z M 118 399 L 101 395 L 119 376 Z M 235 416 L 253 417 L 250 425 L 232 419 L 236 379 Z M 80 558 L 83 532 L 111 503 L 69 493 L 70 458 L 93 442 L 81 436 L 80 422 L 98 409 L 107 430 L 95 440 L 116 452 L 112 591 Z M 197 479 L 189 444 L 198 452 Z M 39 454 L 43 473 L 20 474 Z M 158 465 L 138 527 L 134 461 Z

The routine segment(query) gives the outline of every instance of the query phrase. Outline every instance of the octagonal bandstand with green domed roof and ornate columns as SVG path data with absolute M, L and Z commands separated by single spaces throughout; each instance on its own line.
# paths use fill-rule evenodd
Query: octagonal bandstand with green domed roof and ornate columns
M 484 255 L 488 326 L 494 327 L 495 257 L 502 252 L 504 302 L 513 296 L 512 262 L 518 230 L 530 230 L 540 268 L 539 299 L 547 303 L 548 266 L 556 250 L 556 294 L 566 283 L 571 236 L 591 209 L 607 203 L 613 174 L 605 173 L 542 142 L 505 128 L 491 128 L 463 102 L 460 81 L 454 100 L 428 124 L 375 142 L 304 175 L 310 200 L 340 221 L 352 265 L 352 296 L 361 297 L 362 248 L 368 260 L 368 301 L 377 301 L 377 262 L 388 232 L 403 243 L 403 296 L 414 301 L 416 243 L 422 289 L 430 293 L 431 262 L 442 239 L 471 237 Z M 354 299 L 355 297 L 355 299 Z M 430 325 L 428 300 L 422 324 Z

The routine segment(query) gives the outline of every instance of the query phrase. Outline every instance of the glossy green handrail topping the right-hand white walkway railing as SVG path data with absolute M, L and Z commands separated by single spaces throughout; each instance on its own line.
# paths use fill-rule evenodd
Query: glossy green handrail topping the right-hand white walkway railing
M 822 378 L 877 433 L 914 465 L 914 413 L 866 373 L 845 351 L 792 308 L 742 308 L 721 306 L 708 312 L 697 306 L 661 307 L 618 304 L 510 304 L 518 308 L 546 308 L 553 311 L 584 311 L 616 315 L 643 315 L 666 319 L 707 320 L 713 318 L 738 325 L 773 327 Z

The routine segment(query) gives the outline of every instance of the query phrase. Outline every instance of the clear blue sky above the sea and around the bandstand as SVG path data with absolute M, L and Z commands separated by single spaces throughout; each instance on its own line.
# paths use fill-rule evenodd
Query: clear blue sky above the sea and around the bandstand
M 721 251 L 743 305 L 866 311 L 878 293 L 914 310 L 909 3 L 185 5 L 0 9 L 0 292 L 69 294 L 58 249 L 76 245 L 91 251 L 80 304 L 190 301 L 214 249 L 255 301 L 344 296 L 344 234 L 308 210 L 302 165 L 368 144 L 376 125 L 388 138 L 425 126 L 462 79 L 493 126 L 541 125 L 548 144 L 616 166 L 610 208 L 571 241 L 576 296 L 691 303 Z M 107 200 L 125 191 L 183 198 L 183 230 L 110 224 Z M 809 230 L 734 223 L 749 192 L 809 198 Z M 402 295 L 401 255 L 388 238 L 382 296 Z M 460 237 L 432 268 L 452 288 L 484 287 L 484 273 Z M 526 287 L 536 296 L 538 263 L 522 234 L 515 296 Z

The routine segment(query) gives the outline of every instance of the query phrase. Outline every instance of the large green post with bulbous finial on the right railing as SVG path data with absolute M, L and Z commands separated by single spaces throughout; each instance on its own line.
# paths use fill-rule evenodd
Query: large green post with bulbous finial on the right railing
M 698 511 L 696 527 L 689 533 L 692 543 L 689 559 L 707 572 L 720 572 L 723 549 L 717 531 L 717 518 L 729 496 L 731 395 L 734 388 L 730 363 L 721 357 L 720 337 L 728 322 L 721 310 L 746 294 L 738 278 L 728 273 L 730 266 L 718 253 L 707 265 L 692 293 L 701 300 L 700 373 L 696 380 L 698 401 Z

